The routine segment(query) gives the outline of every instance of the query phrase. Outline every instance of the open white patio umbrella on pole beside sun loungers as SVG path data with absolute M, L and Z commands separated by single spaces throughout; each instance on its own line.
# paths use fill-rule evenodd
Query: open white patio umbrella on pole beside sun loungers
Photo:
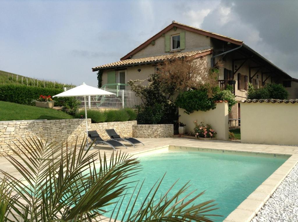
M 83 83 L 80 86 L 75 88 L 69 89 L 65 92 L 61 92 L 53 97 L 71 97 L 71 96 L 83 96 L 84 97 L 84 104 L 85 104 L 85 117 L 86 117 L 86 137 L 87 137 L 87 144 L 84 150 L 88 149 L 88 123 L 87 123 L 87 107 L 86 107 L 86 97 L 87 96 L 97 96 L 97 95 L 115 95 L 115 93 L 108 92 L 102 89 L 98 89 L 92 86 L 88 86 Z M 93 149 L 93 147 L 91 148 Z

